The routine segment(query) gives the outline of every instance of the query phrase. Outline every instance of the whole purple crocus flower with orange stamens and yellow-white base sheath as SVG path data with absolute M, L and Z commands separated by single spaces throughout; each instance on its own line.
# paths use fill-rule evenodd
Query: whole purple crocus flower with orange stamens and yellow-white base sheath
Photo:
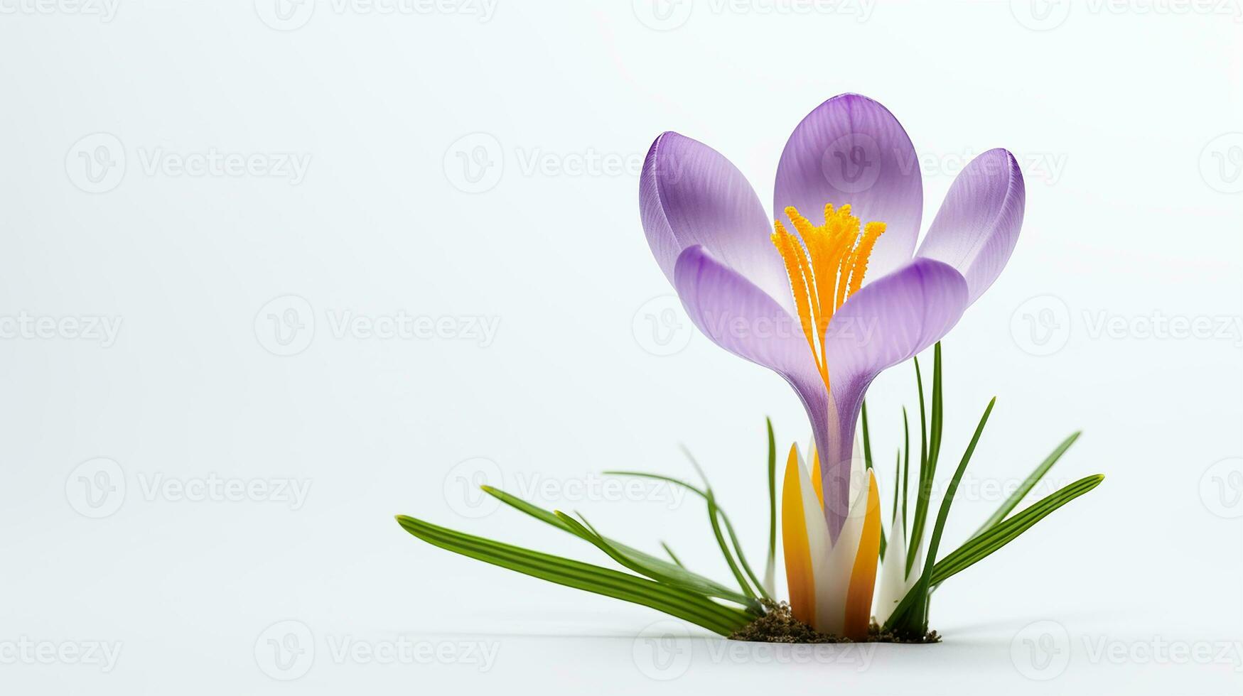
M 691 321 L 783 377 L 810 420 L 813 474 L 793 447 L 782 531 L 792 609 L 818 630 L 859 636 L 871 607 L 880 503 L 855 447 L 864 393 L 992 285 L 1023 203 L 1014 158 L 989 150 L 955 179 L 916 251 L 915 149 L 885 107 L 859 94 L 833 97 L 794 128 L 774 218 L 712 148 L 666 132 L 648 152 L 643 227 Z

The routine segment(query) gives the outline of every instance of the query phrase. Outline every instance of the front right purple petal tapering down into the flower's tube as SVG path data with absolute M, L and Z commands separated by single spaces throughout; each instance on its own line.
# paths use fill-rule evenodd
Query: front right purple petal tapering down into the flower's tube
M 829 434 L 832 456 L 820 456 L 820 472 L 834 536 L 849 505 L 851 447 L 868 385 L 885 368 L 940 341 L 966 308 L 962 276 L 940 261 L 916 259 L 864 286 L 829 321 L 829 388 L 839 419 Z

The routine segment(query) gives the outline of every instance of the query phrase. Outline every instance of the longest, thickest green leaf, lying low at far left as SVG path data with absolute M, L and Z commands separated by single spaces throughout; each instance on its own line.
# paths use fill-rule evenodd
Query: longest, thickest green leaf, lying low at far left
M 404 515 L 397 516 L 397 521 L 410 534 L 454 553 L 561 585 L 643 604 L 721 635 L 730 635 L 756 618 L 706 597 L 628 573 L 455 532 Z

